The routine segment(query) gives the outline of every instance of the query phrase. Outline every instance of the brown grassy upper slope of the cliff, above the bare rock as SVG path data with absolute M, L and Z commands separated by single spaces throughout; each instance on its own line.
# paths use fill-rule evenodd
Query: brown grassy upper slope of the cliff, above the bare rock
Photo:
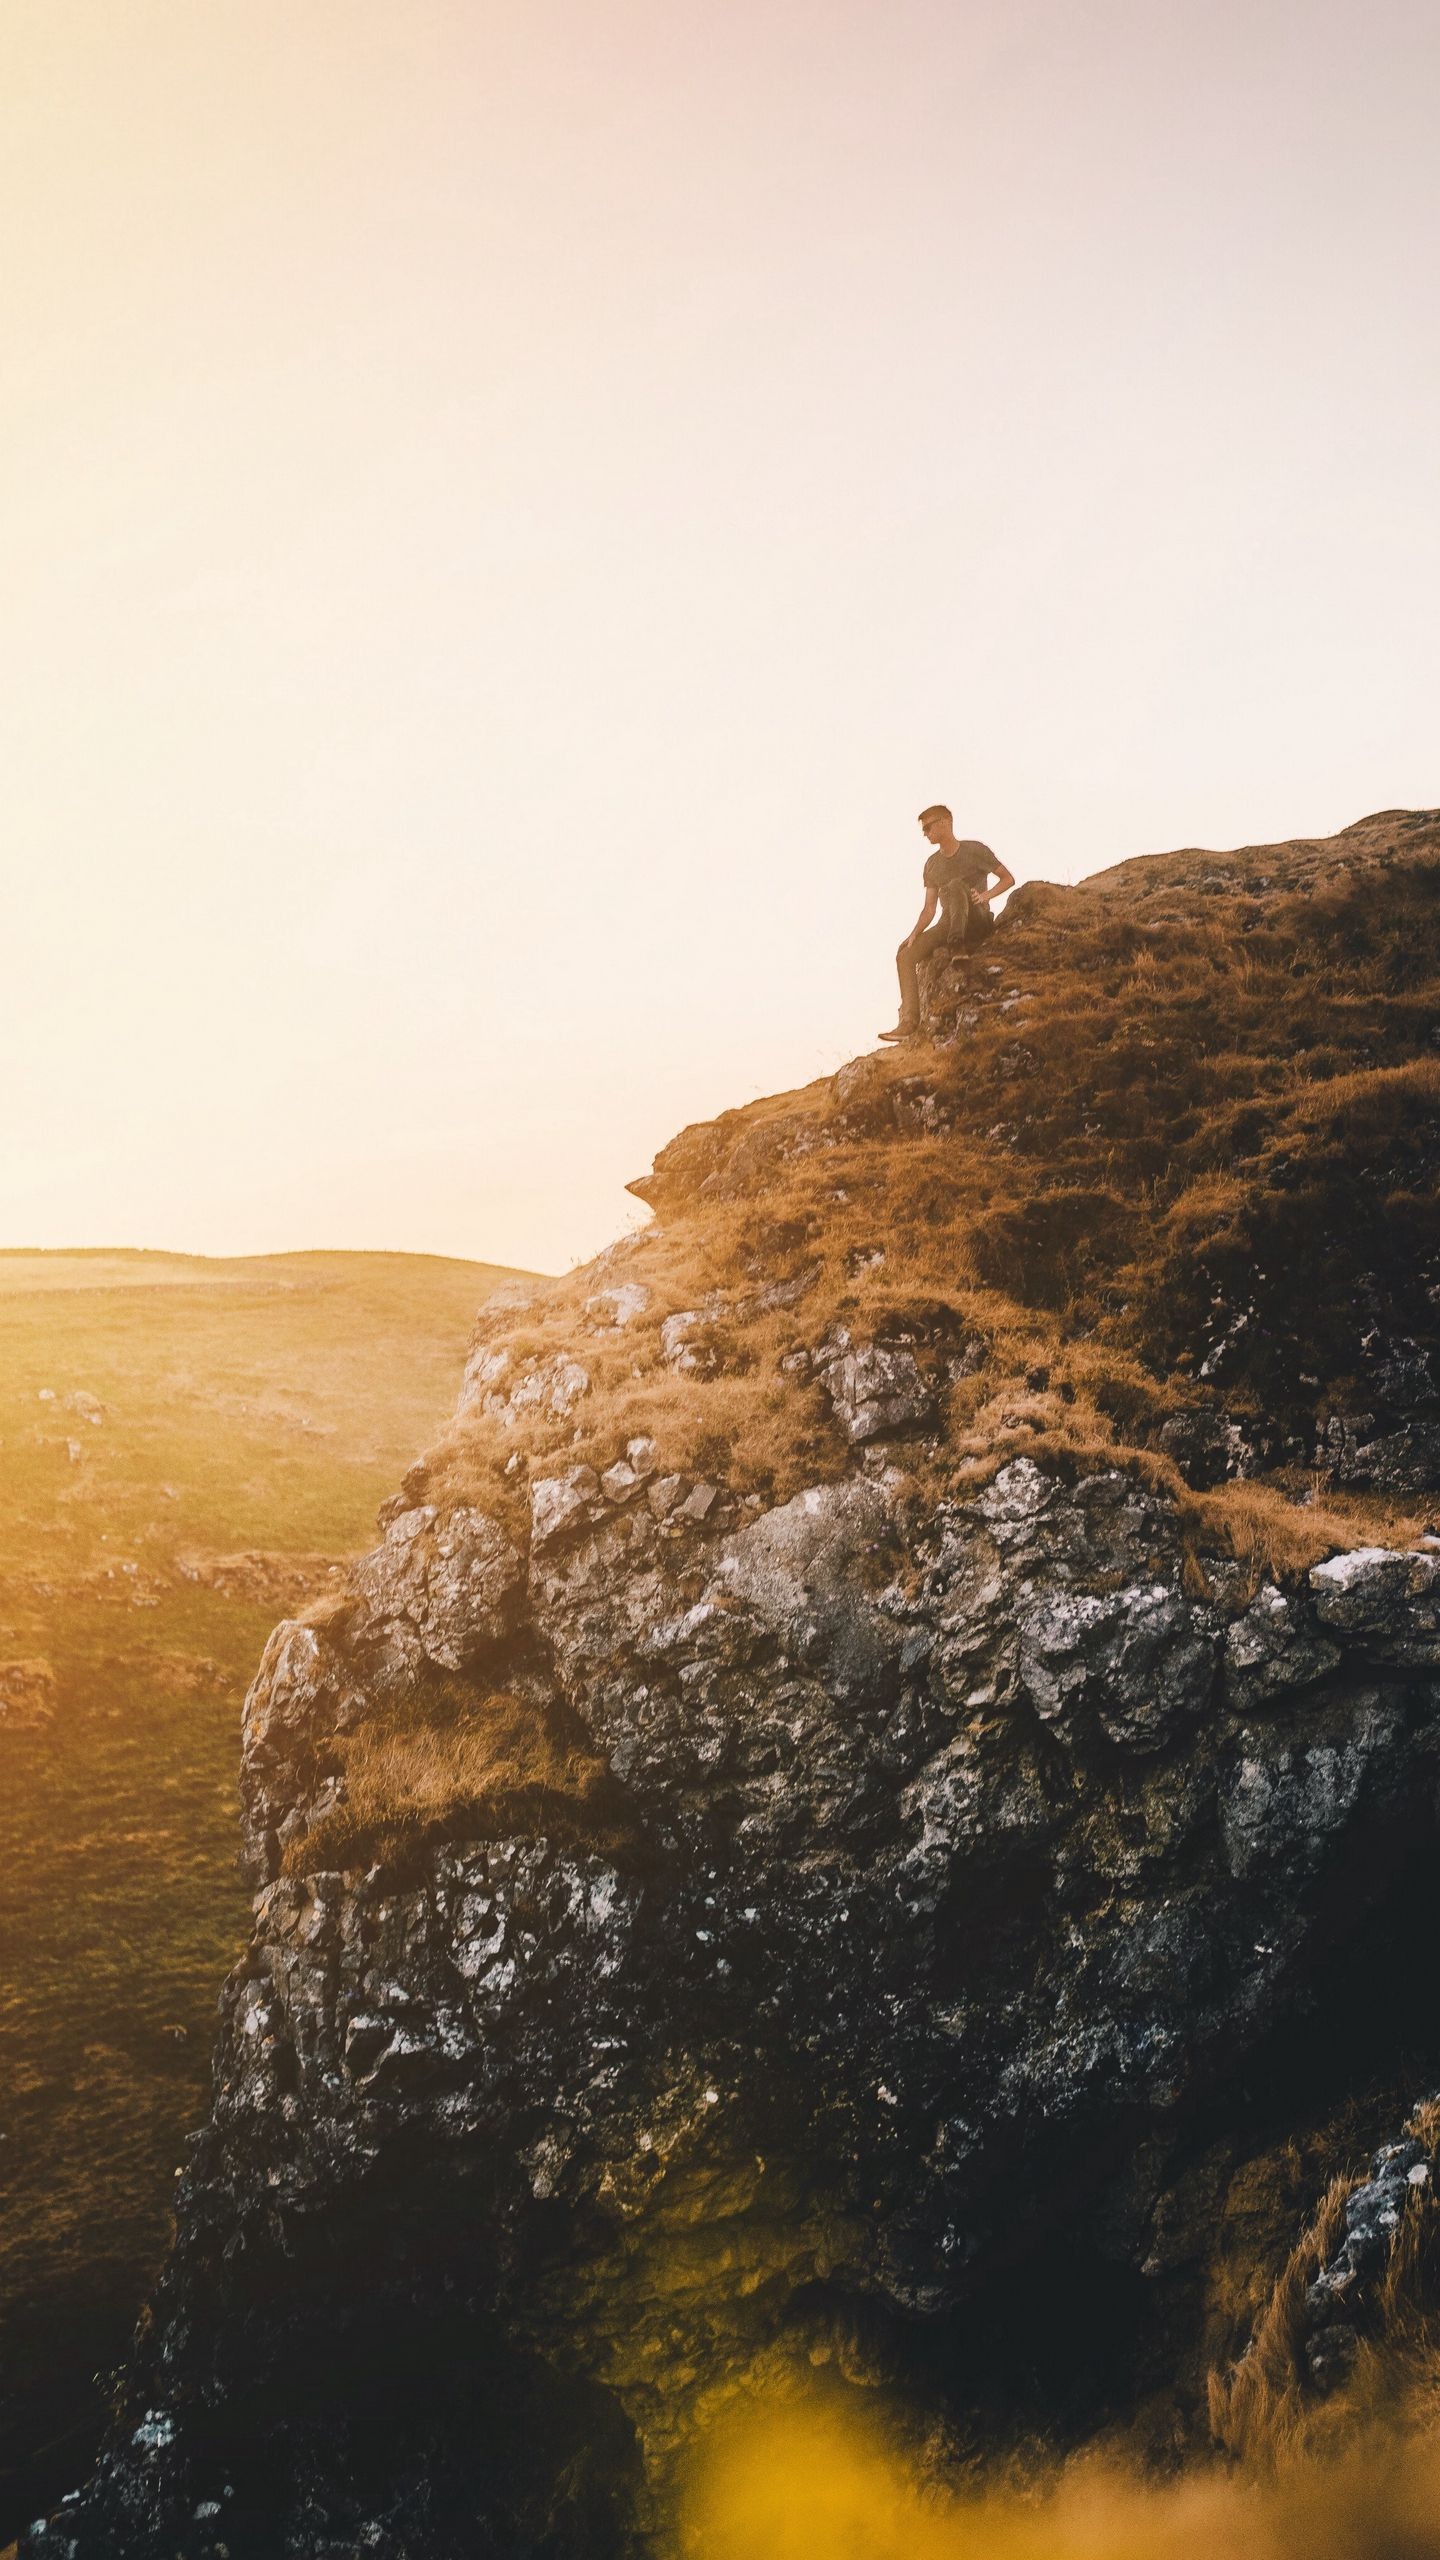
M 433 1498 L 525 1536 L 533 1477 L 648 1434 L 784 1500 L 853 1464 L 856 1344 L 930 1359 L 933 1492 L 1048 1452 L 1271 1564 L 1402 1536 L 1440 1482 L 1437 881 L 1440 812 L 1381 812 L 1025 883 L 930 970 L 935 1037 L 684 1129 L 630 1185 L 656 1226 L 487 1313 Z M 533 1393 L 577 1352 L 584 1398 Z

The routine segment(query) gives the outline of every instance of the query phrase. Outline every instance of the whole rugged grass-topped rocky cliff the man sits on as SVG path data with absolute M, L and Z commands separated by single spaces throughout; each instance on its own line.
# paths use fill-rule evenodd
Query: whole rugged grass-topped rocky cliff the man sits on
M 1437 883 L 1391 812 L 1030 886 L 482 1311 L 251 1690 L 215 2104 L 38 2550 L 666 2550 L 799 2394 L 1209 2440 L 1440 2063 Z

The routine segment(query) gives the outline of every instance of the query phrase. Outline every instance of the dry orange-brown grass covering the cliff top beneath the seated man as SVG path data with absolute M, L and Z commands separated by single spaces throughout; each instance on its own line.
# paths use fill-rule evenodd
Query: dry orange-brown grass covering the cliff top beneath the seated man
M 971 1004 L 953 1047 L 869 1060 L 846 1103 L 822 1080 L 676 1139 L 653 1183 L 659 1226 L 492 1329 L 518 1362 L 579 1357 L 589 1395 L 564 1418 L 469 1416 L 430 1454 L 438 1498 L 523 1533 L 530 1475 L 602 1469 L 643 1434 L 671 1472 L 781 1500 L 851 1464 L 797 1357 L 838 1326 L 979 1347 L 943 1436 L 912 1452 L 935 1490 L 1033 1452 L 1184 1495 L 1156 1446 L 1166 1418 L 1222 1400 L 1245 1416 L 1268 1393 L 1240 1377 L 1220 1398 L 1194 1375 L 1212 1293 L 1271 1257 L 1330 1357 L 1350 1290 L 1330 1270 L 1332 1229 L 1373 1226 L 1376 1252 L 1420 1262 L 1432 1213 L 1420 1180 L 1407 1190 L 1404 1149 L 1440 1129 L 1435 873 L 1391 870 L 1384 899 L 1320 881 L 1266 909 L 1243 865 L 1232 878 L 1204 911 L 1186 911 L 1179 878 L 1148 904 L 1125 876 L 1038 893 L 989 947 L 999 975 L 971 970 L 992 1001 Z M 602 1334 L 584 1298 L 612 1280 L 641 1280 L 651 1303 Z M 805 1285 L 766 1308 L 774 1280 Z M 661 1324 L 705 1308 L 715 1375 L 674 1375 Z M 1320 1408 L 1348 1393 L 1317 1380 Z M 1304 1490 L 1279 1472 L 1191 1495 L 1191 1536 L 1299 1572 L 1417 1531 L 1394 1503 Z

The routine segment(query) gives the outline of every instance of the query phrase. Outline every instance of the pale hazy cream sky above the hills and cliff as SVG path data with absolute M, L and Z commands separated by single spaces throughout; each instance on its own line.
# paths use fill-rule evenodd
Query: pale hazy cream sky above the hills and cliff
M 564 1267 L 1020 878 L 1440 801 L 1435 0 L 0 0 L 0 1244 Z

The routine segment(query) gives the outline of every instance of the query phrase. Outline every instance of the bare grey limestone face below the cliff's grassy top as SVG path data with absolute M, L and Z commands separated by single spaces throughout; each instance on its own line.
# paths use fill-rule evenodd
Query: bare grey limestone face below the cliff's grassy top
M 707 2404 L 963 2332 L 1017 2217 L 1158 2156 L 1432 1825 L 1425 1559 L 1238 1608 L 1130 1477 L 1025 1459 L 930 1510 L 897 1469 L 815 1487 L 684 1562 L 648 1505 L 582 1510 L 520 1600 L 500 1533 L 402 1513 L 341 1633 L 272 1641 L 215 2112 L 46 2550 L 646 2547 Z M 397 1628 L 543 1661 L 615 1836 L 313 1871 Z

